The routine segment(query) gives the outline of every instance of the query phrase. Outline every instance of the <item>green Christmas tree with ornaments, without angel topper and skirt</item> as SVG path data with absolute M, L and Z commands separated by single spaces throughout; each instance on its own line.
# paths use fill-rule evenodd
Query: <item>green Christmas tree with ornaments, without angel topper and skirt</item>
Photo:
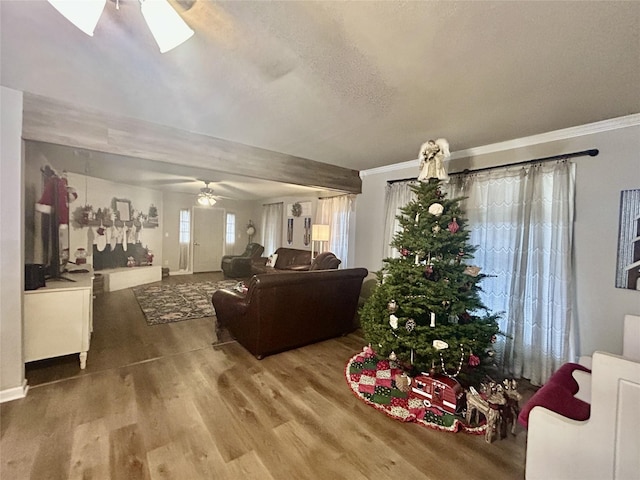
M 378 286 L 361 310 L 365 341 L 379 356 L 411 373 L 443 373 L 477 384 L 493 365 L 498 315 L 482 303 L 484 275 L 467 264 L 475 247 L 461 209 L 441 180 L 413 185 L 415 200 L 401 209 L 401 230 L 392 246 L 399 258 L 384 259 Z

